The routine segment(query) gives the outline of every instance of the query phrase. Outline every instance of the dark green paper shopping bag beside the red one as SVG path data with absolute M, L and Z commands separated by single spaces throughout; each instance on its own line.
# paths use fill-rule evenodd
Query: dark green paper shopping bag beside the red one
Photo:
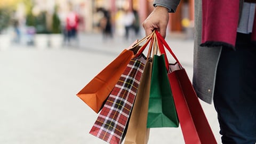
M 172 91 L 164 55 L 154 55 L 151 76 L 147 127 L 178 127 Z

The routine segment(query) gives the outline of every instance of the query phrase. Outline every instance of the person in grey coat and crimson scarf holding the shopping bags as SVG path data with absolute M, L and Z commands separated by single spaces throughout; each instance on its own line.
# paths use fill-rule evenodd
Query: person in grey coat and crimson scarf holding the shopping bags
M 180 0 L 155 0 L 143 22 L 166 36 L 169 13 Z M 196 0 L 193 85 L 199 98 L 214 102 L 222 143 L 256 142 L 255 0 Z

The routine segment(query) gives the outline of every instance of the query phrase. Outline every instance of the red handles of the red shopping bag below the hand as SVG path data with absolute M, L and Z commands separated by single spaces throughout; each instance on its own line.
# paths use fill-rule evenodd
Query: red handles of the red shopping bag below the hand
M 158 39 L 158 47 L 159 47 L 159 50 L 161 51 L 161 53 L 163 53 L 165 56 L 165 64 L 166 64 L 166 68 L 169 70 L 169 61 L 167 59 L 167 56 L 166 56 L 166 52 L 165 52 L 165 49 L 164 49 L 164 46 L 166 47 L 166 49 L 171 53 L 172 57 L 175 59 L 175 61 L 177 61 L 177 63 L 182 67 L 182 65 L 180 64 L 178 58 L 175 56 L 175 54 L 173 53 L 173 51 L 171 50 L 170 46 L 166 43 L 165 39 L 159 34 L 158 31 L 156 31 L 156 36 L 157 36 L 157 39 Z M 160 43 L 159 43 L 160 42 Z

